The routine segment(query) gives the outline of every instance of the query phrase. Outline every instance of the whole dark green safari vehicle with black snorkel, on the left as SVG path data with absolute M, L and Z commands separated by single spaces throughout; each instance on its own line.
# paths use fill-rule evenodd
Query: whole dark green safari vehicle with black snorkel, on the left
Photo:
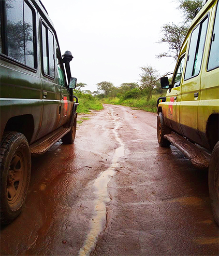
M 0 8 L 1 223 L 9 223 L 24 205 L 31 156 L 74 142 L 78 99 L 73 57 L 61 55 L 41 1 L 4 0 Z

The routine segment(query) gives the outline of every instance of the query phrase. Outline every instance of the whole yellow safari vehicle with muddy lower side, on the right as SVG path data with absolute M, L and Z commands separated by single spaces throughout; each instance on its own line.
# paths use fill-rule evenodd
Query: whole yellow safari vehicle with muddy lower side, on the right
M 182 45 L 166 97 L 157 105 L 160 146 L 177 146 L 198 168 L 209 168 L 209 193 L 218 223 L 219 4 L 199 11 Z

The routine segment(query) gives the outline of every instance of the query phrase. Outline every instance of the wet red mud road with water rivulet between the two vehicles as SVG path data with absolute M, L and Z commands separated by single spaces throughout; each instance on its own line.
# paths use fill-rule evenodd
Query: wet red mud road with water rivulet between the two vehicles
M 105 105 L 73 145 L 32 159 L 1 255 L 218 255 L 208 172 L 156 138 L 156 115 Z

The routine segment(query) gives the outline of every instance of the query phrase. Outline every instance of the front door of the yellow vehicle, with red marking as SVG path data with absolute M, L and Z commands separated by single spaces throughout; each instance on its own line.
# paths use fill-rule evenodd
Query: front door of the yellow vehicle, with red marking
M 175 72 L 173 74 L 171 87 L 167 92 L 167 101 L 166 101 L 166 113 L 165 113 L 165 122 L 171 127 L 171 129 L 180 132 L 179 130 L 179 113 L 177 113 L 178 105 L 181 100 L 180 96 L 180 85 L 181 79 L 183 76 L 183 68 L 185 63 L 185 54 L 179 59 Z

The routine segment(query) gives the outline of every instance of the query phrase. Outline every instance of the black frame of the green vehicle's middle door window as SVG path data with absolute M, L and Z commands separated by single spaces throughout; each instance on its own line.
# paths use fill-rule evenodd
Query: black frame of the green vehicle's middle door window
M 51 32 L 52 36 L 53 36 L 53 61 L 54 61 L 54 77 L 53 76 L 50 76 L 48 74 L 46 74 L 44 72 L 44 66 L 43 66 L 43 45 L 42 45 L 42 24 L 46 27 L 47 29 L 47 38 L 46 38 L 46 47 L 47 47 L 47 54 L 49 52 L 49 37 L 48 37 L 48 30 Z M 42 74 L 43 76 L 45 77 L 48 77 L 52 80 L 55 80 L 55 75 L 56 75 L 56 72 L 55 72 L 55 40 L 54 40 L 54 33 L 53 31 L 50 29 L 49 25 L 47 24 L 47 22 L 45 20 L 43 20 L 42 18 L 40 18 L 40 53 L 41 53 L 41 71 L 42 71 Z M 48 69 L 50 69 L 50 61 L 49 61 L 49 54 L 48 54 Z

